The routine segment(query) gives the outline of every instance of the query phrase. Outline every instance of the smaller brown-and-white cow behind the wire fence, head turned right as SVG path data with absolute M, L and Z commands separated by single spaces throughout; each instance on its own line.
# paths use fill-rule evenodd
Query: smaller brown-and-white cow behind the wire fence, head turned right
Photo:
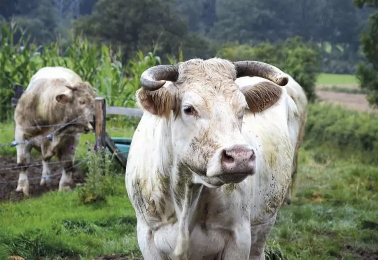
M 27 166 L 31 148 L 42 157 L 40 184 L 49 183 L 48 162 L 57 156 L 63 168 L 59 190 L 67 190 L 72 182 L 75 146 L 79 135 L 92 130 L 90 121 L 97 97 L 95 89 L 71 69 L 43 67 L 30 80 L 18 100 L 15 119 L 17 165 L 20 169 L 17 192 L 29 194 Z M 51 134 L 52 139 L 46 138 Z M 25 167 L 26 166 L 26 167 Z

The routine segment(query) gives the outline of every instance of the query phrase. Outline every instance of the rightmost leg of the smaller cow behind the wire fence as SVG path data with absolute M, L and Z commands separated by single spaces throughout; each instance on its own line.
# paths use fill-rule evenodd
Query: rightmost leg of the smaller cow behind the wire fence
M 75 156 L 73 153 L 64 151 L 58 153 L 58 159 L 61 162 L 62 176 L 59 181 L 59 191 L 66 191 L 71 189 L 72 173 L 74 171 L 73 164 L 75 162 Z

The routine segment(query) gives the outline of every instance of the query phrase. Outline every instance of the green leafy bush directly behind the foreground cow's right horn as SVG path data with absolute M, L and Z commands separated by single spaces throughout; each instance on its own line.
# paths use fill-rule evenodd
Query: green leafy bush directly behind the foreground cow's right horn
M 304 88 L 309 101 L 316 98 L 315 83 L 321 70 L 320 50 L 314 44 L 303 42 L 299 37 L 276 45 L 264 43 L 250 47 L 231 44 L 221 49 L 219 55 L 231 61 L 259 60 L 273 64 Z

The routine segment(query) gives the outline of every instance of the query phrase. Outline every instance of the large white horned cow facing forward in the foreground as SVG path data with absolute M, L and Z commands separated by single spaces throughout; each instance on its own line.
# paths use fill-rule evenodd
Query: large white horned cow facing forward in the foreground
M 271 81 L 237 87 L 244 76 Z M 299 131 L 287 80 L 219 58 L 142 74 L 125 183 L 144 259 L 265 259 Z

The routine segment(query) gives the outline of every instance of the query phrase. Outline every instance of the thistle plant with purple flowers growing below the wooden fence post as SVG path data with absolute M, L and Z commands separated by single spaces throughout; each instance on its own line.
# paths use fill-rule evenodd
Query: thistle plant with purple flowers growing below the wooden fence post
M 106 201 L 107 196 L 114 195 L 113 179 L 110 175 L 112 167 L 112 157 L 107 155 L 104 147 L 97 147 L 97 144 L 87 143 L 88 173 L 86 182 L 78 189 L 80 203 L 89 204 L 94 202 Z

